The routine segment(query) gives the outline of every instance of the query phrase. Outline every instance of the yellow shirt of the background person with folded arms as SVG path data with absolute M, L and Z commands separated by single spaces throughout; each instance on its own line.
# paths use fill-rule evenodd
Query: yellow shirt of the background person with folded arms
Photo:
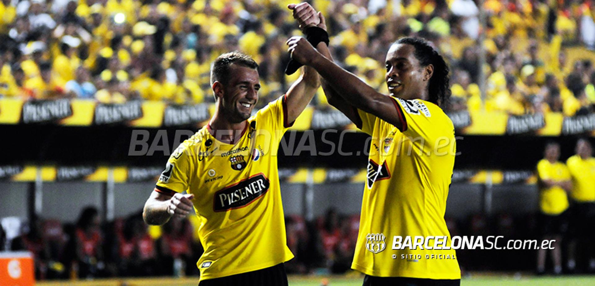
M 540 180 L 554 180 L 555 182 L 564 182 L 570 180 L 570 172 L 566 165 L 561 162 L 550 163 L 546 159 L 541 159 L 537 163 L 537 176 Z M 568 196 L 566 191 L 560 186 L 551 188 L 542 188 L 540 191 L 539 207 L 541 212 L 547 215 L 559 215 L 568 209 Z

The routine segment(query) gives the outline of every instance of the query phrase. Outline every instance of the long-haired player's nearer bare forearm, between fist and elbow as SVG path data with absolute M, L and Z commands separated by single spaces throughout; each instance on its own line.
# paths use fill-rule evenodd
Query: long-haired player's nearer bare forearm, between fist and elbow
M 325 84 L 340 94 L 352 106 L 365 112 L 373 113 L 376 98 L 384 97 L 374 88 L 360 80 L 356 75 L 345 71 L 336 63 L 331 62 L 322 54 L 317 56 L 309 65 L 314 67 L 318 74 L 324 78 Z M 324 85 L 323 87 L 324 88 Z M 332 96 L 331 96 L 332 97 Z

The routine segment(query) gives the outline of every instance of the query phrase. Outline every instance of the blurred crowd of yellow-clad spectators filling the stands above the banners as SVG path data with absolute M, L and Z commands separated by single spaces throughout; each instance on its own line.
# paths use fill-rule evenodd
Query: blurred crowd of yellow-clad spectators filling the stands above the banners
M 300 34 L 286 8 L 292 2 L 2 0 L 0 96 L 212 102 L 209 64 L 241 50 L 260 64 L 264 106 L 297 77 L 283 74 L 284 42 Z M 390 43 L 421 36 L 450 63 L 454 110 L 593 109 L 593 64 L 568 63 L 565 53 L 568 45 L 595 47 L 593 1 L 477 3 L 312 1 L 327 18 L 336 61 L 380 91 Z M 321 94 L 313 104 L 325 107 Z

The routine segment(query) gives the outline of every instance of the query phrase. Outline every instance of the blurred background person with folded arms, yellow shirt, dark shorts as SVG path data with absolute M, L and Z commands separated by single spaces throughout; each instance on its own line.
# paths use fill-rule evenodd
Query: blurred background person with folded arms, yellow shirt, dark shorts
M 554 273 L 562 274 L 560 240 L 568 228 L 566 192 L 572 189 L 571 176 L 566 165 L 560 161 L 560 145 L 550 142 L 546 145 L 544 158 L 537 163 L 539 185 L 540 225 L 543 239 L 555 240 L 551 250 Z M 545 272 L 546 249 L 537 250 L 537 274 Z

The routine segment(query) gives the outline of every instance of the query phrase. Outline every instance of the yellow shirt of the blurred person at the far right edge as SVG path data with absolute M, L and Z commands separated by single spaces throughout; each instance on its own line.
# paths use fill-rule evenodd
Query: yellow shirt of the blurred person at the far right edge
M 577 202 L 595 202 L 595 158 L 583 160 L 574 155 L 566 160 L 572 176 L 572 199 Z

